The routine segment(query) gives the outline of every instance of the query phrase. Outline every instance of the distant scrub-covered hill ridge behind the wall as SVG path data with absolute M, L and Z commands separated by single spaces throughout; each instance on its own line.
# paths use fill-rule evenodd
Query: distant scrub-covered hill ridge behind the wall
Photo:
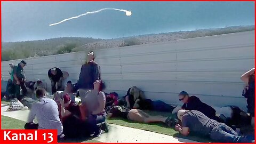
M 149 34 L 116 39 L 94 39 L 83 37 L 60 37 L 40 41 L 2 43 L 2 61 L 40 57 L 45 55 L 69 53 L 83 50 L 108 49 L 148 43 L 176 41 L 194 37 L 221 35 L 254 30 L 254 26 L 234 26 L 218 29 L 177 31 L 171 33 Z

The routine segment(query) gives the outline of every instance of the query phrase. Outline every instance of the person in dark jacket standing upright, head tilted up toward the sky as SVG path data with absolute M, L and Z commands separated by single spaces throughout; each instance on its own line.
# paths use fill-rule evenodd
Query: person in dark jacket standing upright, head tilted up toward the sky
M 94 61 L 94 53 L 87 54 L 86 63 L 81 67 L 78 79 L 79 95 L 84 95 L 87 91 L 93 89 L 93 83 L 100 79 L 100 67 Z

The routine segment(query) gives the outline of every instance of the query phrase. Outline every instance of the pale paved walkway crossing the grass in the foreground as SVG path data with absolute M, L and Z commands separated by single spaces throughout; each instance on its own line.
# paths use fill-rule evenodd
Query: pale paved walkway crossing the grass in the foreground
M 19 119 L 25 122 L 27 121 L 29 110 L 6 111 L 8 106 L 1 104 L 1 107 L 1 115 Z M 99 138 L 94 138 L 93 140 L 101 142 L 196 142 L 182 138 L 175 138 L 170 135 L 133 129 L 131 127 L 115 124 L 109 124 L 109 132 L 102 133 Z

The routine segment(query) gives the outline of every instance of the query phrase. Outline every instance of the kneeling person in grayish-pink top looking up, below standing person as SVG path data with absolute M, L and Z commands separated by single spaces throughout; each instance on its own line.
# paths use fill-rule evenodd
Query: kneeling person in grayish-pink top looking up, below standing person
M 102 123 L 103 127 L 107 128 L 106 121 L 106 96 L 102 90 L 105 88 L 105 84 L 101 80 L 96 80 L 93 83 L 93 90 L 87 91 L 85 95 L 80 95 L 82 105 L 86 106 L 86 114 L 88 114 L 88 121 L 91 125 Z M 93 129 L 98 130 L 97 133 L 94 134 L 97 137 L 97 134 L 100 134 L 102 131 L 100 127 L 94 127 Z M 104 130 L 105 131 L 105 130 Z M 108 131 L 106 129 L 106 131 Z

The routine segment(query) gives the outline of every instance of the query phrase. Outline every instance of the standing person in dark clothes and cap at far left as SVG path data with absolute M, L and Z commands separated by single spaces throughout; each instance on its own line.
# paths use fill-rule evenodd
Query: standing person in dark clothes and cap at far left
M 17 66 L 13 67 L 13 83 L 15 84 L 15 97 L 21 100 L 23 96 L 27 93 L 27 88 L 25 86 L 25 71 L 24 67 L 27 65 L 25 60 L 20 61 Z M 22 95 L 20 95 L 20 88 L 22 89 Z

